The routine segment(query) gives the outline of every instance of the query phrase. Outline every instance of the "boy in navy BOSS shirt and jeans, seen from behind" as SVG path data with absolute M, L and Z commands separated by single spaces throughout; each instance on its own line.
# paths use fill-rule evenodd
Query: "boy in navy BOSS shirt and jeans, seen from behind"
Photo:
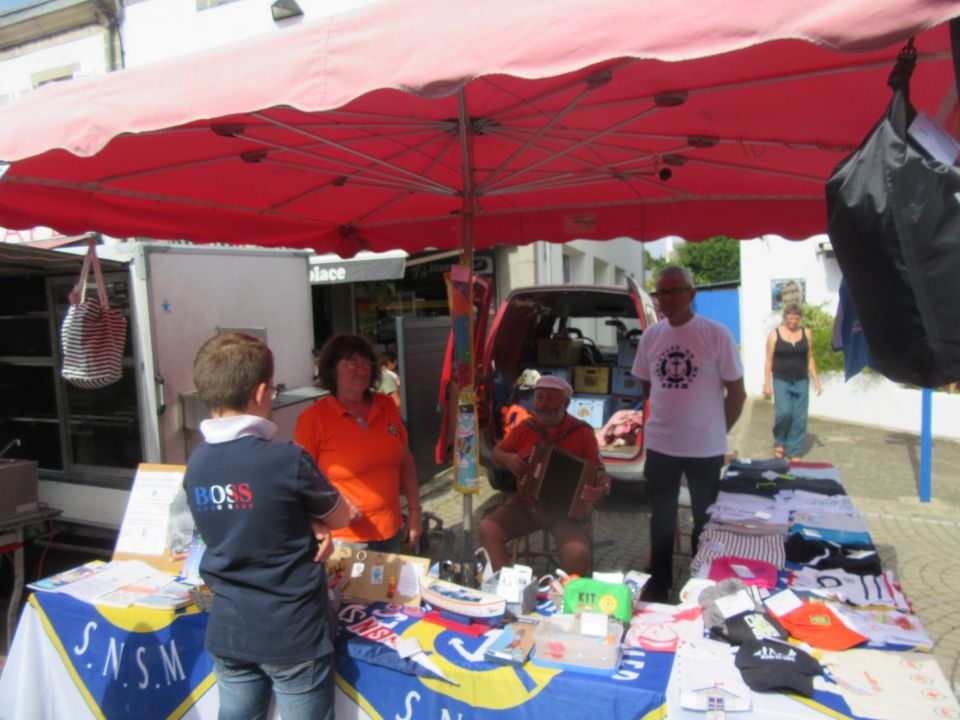
M 206 648 L 220 719 L 333 718 L 333 633 L 323 562 L 329 529 L 355 512 L 292 443 L 273 443 L 273 353 L 244 333 L 204 343 L 193 380 L 212 419 L 184 489 L 206 542 L 200 574 L 214 593 Z

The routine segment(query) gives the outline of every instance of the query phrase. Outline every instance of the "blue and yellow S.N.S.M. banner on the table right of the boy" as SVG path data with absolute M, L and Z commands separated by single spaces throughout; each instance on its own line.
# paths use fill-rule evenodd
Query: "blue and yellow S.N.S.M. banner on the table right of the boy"
M 549 605 L 549 607 L 547 607 Z M 539 608 L 553 611 L 545 601 Z M 391 720 L 474 718 L 476 720 L 580 720 L 653 718 L 666 712 L 672 653 L 626 649 L 616 672 L 596 675 L 522 667 L 484 660 L 495 637 L 469 637 L 383 605 L 350 606 L 343 627 L 365 628 L 376 619 L 379 632 L 413 638 L 443 678 L 419 669 L 397 672 L 338 654 L 337 683 L 372 717 Z M 416 674 L 413 674 L 416 672 Z

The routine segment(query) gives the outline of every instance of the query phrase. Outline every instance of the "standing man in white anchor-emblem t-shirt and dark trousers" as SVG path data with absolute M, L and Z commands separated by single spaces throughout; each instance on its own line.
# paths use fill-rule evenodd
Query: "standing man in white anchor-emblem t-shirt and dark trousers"
M 720 323 L 695 315 L 689 270 L 676 265 L 657 275 L 655 295 L 664 316 L 640 337 L 633 374 L 650 400 L 644 427 L 644 476 L 650 497 L 650 574 L 644 599 L 666 601 L 673 585 L 673 545 L 680 478 L 687 476 L 696 553 L 707 508 L 717 497 L 727 432 L 743 403 L 743 365 L 733 336 Z

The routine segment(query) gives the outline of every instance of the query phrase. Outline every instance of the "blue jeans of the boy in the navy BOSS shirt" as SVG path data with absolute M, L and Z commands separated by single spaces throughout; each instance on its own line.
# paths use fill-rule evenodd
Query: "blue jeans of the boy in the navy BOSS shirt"
M 333 655 L 293 665 L 213 656 L 219 720 L 266 720 L 271 690 L 283 720 L 333 720 Z

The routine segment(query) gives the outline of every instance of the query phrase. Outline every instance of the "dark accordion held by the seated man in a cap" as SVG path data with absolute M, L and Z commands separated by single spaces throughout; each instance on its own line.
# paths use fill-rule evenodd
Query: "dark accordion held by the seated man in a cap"
M 581 497 L 585 485 L 597 482 L 600 467 L 556 445 L 537 445 L 518 490 L 550 510 L 582 520 L 591 509 Z

